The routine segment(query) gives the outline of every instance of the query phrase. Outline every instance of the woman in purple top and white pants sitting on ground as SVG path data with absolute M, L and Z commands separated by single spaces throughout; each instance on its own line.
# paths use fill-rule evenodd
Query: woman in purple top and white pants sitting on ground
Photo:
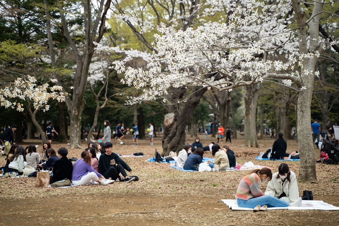
M 106 180 L 100 173 L 95 171 L 92 166 L 91 157 L 88 151 L 81 153 L 81 159 L 73 164 L 72 184 L 86 185 L 91 180 L 98 182 L 101 185 L 106 185 L 114 181 Z

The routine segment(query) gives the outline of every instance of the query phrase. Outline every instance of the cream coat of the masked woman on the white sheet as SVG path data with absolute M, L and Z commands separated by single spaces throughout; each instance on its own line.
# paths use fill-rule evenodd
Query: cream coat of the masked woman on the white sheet
M 290 203 L 297 201 L 299 198 L 297 177 L 294 172 L 292 172 L 291 170 L 290 172 L 291 182 L 288 182 L 288 180 L 286 179 L 284 184 L 282 184 L 280 178 L 276 178 L 278 176 L 278 172 L 274 173 L 272 176 L 272 180 L 269 181 L 267 184 L 265 195 L 278 198 L 282 194 L 282 192 L 285 192 L 288 199 L 290 199 Z

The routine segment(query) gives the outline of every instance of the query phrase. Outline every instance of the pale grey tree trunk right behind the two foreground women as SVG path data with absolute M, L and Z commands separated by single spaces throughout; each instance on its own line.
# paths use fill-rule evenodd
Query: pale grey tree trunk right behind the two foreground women
M 323 4 L 314 2 L 311 18 L 308 22 L 308 34 L 306 32 L 305 10 L 302 8 L 302 3 L 298 0 L 292 0 L 295 18 L 298 25 L 299 52 L 300 54 L 316 53 L 320 51 L 321 44 L 319 38 L 319 20 L 321 17 Z M 310 39 L 307 40 L 307 36 Z M 309 44 L 307 43 L 309 42 Z M 311 124 L 311 102 L 314 86 L 314 72 L 317 57 L 304 58 L 302 61 L 304 70 L 311 70 L 312 75 L 306 75 L 304 70 L 301 70 L 300 77 L 302 79 L 301 86 L 305 86 L 306 90 L 300 91 L 298 98 L 298 143 L 300 152 L 300 170 L 299 180 L 314 181 L 317 180 L 314 144 L 312 141 Z

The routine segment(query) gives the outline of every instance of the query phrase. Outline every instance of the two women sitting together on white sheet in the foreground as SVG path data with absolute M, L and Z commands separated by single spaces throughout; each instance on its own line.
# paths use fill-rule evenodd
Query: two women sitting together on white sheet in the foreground
M 263 193 L 260 183 L 266 182 Z M 274 174 L 266 167 L 248 172 L 239 183 L 236 198 L 239 207 L 254 208 L 254 211 L 265 211 L 267 207 L 297 207 L 302 201 L 296 175 L 285 163 L 280 164 Z

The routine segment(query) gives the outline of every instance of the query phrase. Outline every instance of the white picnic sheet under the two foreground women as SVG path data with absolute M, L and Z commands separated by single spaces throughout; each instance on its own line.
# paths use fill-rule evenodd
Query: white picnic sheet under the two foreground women
M 253 210 L 252 208 L 238 207 L 237 201 L 235 199 L 222 199 L 230 209 L 236 210 Z M 325 203 L 321 200 L 302 200 L 301 206 L 299 207 L 270 207 L 267 210 L 275 209 L 287 209 L 287 210 L 339 210 L 339 207 L 333 206 L 331 204 Z

